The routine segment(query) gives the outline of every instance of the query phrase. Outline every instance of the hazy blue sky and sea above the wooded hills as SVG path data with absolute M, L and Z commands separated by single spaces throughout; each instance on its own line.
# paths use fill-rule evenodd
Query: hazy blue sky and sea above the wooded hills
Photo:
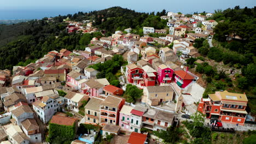
M 252 8 L 255 0 L 8 0 L 0 5 L 0 20 L 2 19 L 39 19 L 45 16 L 73 14 L 78 11 L 101 10 L 120 6 L 139 12 L 166 11 L 193 14 L 195 11 L 213 13 L 216 9 Z

